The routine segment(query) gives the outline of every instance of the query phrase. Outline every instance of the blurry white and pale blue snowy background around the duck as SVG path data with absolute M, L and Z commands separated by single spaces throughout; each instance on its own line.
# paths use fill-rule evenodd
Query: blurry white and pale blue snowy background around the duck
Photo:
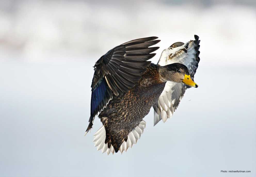
M 0 1 L 0 176 L 255 176 L 255 1 Z M 198 88 L 123 155 L 83 136 L 95 61 L 201 39 Z M 189 108 L 189 109 L 188 109 Z M 251 170 L 251 173 L 221 173 Z

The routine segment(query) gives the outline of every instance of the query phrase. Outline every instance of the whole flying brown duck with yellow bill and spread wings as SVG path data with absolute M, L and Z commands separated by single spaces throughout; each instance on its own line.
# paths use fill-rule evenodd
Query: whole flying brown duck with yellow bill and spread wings
M 154 126 L 174 114 L 187 88 L 198 85 L 199 37 L 163 50 L 157 64 L 148 61 L 159 47 L 158 37 L 135 39 L 109 50 L 94 65 L 91 112 L 85 135 L 96 115 L 102 127 L 94 134 L 97 150 L 127 151 L 146 127 L 143 118 L 154 109 Z

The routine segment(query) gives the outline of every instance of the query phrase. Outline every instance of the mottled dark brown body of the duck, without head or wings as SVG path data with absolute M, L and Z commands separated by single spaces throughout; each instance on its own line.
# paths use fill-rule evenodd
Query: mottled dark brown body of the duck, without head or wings
M 149 113 L 164 89 L 165 82 L 160 79 L 158 67 L 149 65 L 142 79 L 130 91 L 113 97 L 99 114 L 106 128 L 105 143 L 109 147 L 112 144 L 116 152 L 127 140 L 128 134 Z

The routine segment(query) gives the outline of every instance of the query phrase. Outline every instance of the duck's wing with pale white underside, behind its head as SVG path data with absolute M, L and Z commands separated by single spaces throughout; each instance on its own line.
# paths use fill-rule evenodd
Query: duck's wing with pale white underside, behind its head
M 186 44 L 183 42 L 176 42 L 165 49 L 157 64 L 164 66 L 172 63 L 181 63 L 187 66 L 190 77 L 193 79 L 200 61 L 200 58 L 198 57 L 200 54 L 200 51 L 198 51 L 200 40 L 198 40 L 199 37 L 197 35 L 194 37 L 194 41 L 189 41 Z M 190 88 L 190 86 L 183 83 L 166 82 L 162 94 L 159 96 L 158 101 L 153 105 L 154 125 L 161 119 L 165 122 L 168 118 L 172 117 L 173 112 L 177 109 L 187 88 Z

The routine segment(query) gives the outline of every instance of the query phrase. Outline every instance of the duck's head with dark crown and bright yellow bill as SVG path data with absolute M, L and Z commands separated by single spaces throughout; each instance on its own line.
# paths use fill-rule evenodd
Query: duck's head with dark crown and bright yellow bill
M 160 75 L 163 81 L 185 83 L 192 87 L 198 87 L 198 85 L 190 78 L 188 68 L 181 63 L 172 63 L 170 65 L 162 66 Z

